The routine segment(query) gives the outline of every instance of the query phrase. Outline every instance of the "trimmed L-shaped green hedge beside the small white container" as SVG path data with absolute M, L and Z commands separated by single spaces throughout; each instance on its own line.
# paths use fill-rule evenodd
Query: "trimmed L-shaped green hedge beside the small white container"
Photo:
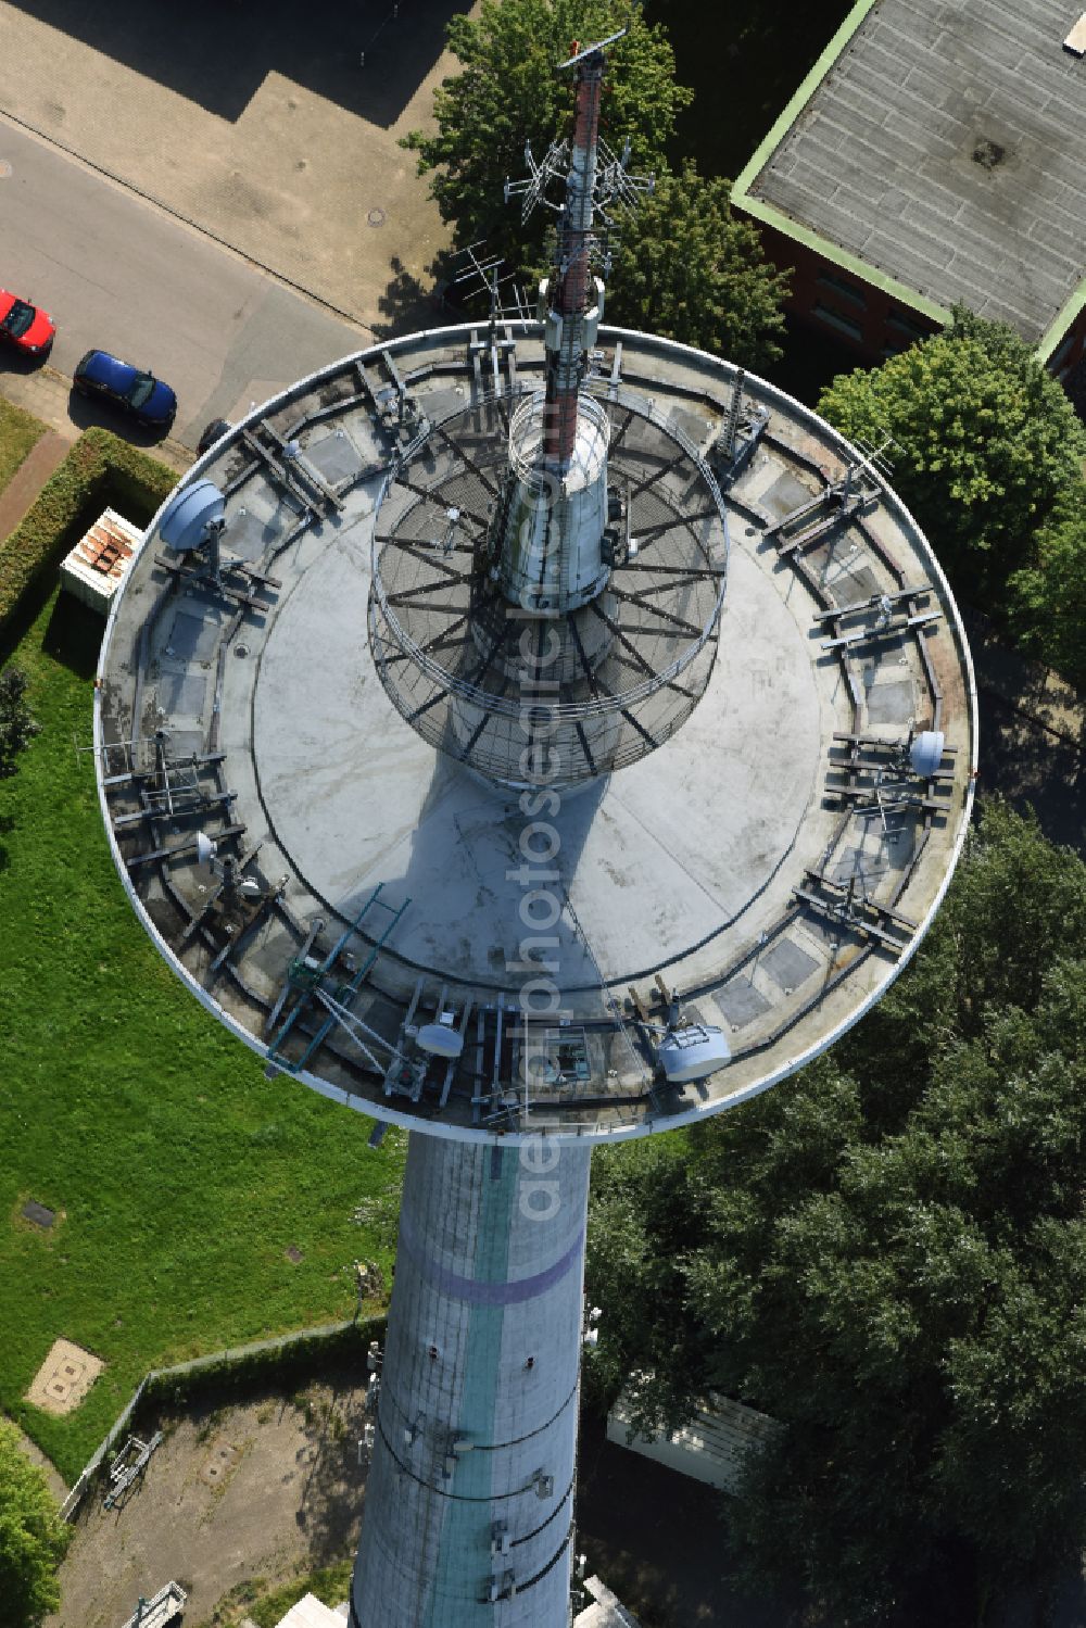
M 23 596 L 60 563 L 104 508 L 147 526 L 176 482 L 173 469 L 109 430 L 85 430 L 33 508 L 0 542 L 0 633 Z

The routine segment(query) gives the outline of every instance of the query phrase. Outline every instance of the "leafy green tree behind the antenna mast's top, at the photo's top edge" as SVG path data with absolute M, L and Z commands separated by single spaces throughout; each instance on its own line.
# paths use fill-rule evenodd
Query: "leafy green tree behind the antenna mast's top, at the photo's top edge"
M 449 21 L 448 46 L 464 68 L 435 91 L 436 132 L 412 130 L 404 147 L 418 153 L 418 173 L 431 174 L 454 247 L 485 238 L 518 270 L 541 262 L 554 217 L 537 208 L 523 228 L 519 202 L 503 204 L 505 182 L 524 174 L 526 140 L 541 160 L 570 132 L 573 81 L 555 68 L 571 41 L 619 28 L 628 33 L 607 54 L 601 130 L 619 148 L 628 138 L 635 169 L 661 168 L 692 93 L 676 83 L 664 29 L 630 0 L 482 0 L 479 16 Z

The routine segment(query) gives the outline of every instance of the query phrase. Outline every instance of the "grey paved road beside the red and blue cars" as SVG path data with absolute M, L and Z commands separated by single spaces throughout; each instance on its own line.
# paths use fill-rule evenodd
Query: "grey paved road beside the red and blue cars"
M 50 365 L 111 350 L 177 394 L 174 438 L 371 344 L 153 204 L 0 116 L 0 287 L 57 324 Z M 77 420 L 86 422 L 86 404 Z M 107 409 L 93 417 L 124 431 Z M 145 440 L 145 436 L 137 436 Z

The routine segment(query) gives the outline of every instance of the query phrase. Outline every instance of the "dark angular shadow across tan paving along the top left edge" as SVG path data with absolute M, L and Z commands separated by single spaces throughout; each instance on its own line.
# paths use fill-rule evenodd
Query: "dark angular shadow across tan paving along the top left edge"
M 449 18 L 467 10 L 458 0 L 361 0 L 316 16 L 287 0 L 189 0 L 181 10 L 147 0 L 13 3 L 231 124 L 267 75 L 282 73 L 386 129 L 441 55 Z

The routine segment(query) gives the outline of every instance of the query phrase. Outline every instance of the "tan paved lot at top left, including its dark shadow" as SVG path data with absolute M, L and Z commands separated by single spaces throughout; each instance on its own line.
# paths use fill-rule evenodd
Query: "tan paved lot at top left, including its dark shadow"
M 397 143 L 431 127 L 467 7 L 256 10 L 0 0 L 0 111 L 334 311 L 410 324 L 448 234 Z

